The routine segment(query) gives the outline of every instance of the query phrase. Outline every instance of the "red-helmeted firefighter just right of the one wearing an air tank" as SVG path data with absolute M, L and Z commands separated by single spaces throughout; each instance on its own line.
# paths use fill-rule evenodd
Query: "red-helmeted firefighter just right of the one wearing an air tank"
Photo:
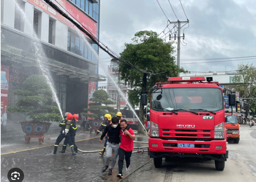
M 75 143 L 75 135 L 76 135 L 76 129 L 77 129 L 76 121 L 78 121 L 78 115 L 73 114 L 73 118 L 72 118 L 72 121 L 71 121 L 71 126 L 72 127 L 69 129 L 69 135 L 70 135 L 72 145 L 74 145 L 75 153 L 78 152 L 78 148 L 77 148 L 76 143 Z M 67 144 L 68 144 L 68 140 L 65 139 L 64 143 L 63 143 L 63 146 L 62 146 L 61 153 L 65 153 L 65 150 L 67 149 Z

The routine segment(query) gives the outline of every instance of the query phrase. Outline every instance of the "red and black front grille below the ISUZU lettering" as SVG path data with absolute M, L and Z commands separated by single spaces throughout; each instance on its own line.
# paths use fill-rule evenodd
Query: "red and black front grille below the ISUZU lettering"
M 212 140 L 210 138 L 211 130 L 162 129 L 162 136 L 163 137 L 160 137 L 160 138 L 164 140 L 179 140 L 179 141 L 211 141 Z

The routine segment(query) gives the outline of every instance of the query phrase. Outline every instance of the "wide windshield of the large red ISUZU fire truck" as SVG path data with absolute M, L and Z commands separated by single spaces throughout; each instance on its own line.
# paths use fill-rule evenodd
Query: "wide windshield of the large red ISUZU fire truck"
M 152 93 L 151 108 L 155 111 L 223 110 L 223 96 L 219 88 L 158 88 Z M 181 112 L 187 112 L 187 111 Z

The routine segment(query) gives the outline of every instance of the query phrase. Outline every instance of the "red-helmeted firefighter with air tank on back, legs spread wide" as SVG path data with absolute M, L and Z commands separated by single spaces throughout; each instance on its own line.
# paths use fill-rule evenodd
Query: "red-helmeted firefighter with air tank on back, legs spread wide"
M 61 130 L 60 130 L 59 137 L 56 139 L 53 154 L 57 153 L 59 143 L 63 140 L 63 138 L 65 138 L 65 139 L 67 139 L 67 142 L 68 142 L 69 146 L 71 147 L 72 155 L 76 155 L 74 145 L 71 142 L 70 134 L 69 134 L 69 129 L 71 127 L 71 120 L 72 120 L 73 116 L 69 112 L 65 113 L 65 115 L 66 114 L 67 114 L 67 117 L 65 119 L 61 120 L 61 122 L 59 124 L 59 126 L 61 127 Z

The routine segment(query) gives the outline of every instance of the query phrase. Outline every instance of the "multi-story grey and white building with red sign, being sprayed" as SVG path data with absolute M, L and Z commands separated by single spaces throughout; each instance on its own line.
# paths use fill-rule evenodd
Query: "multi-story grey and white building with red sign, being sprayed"
M 99 39 L 100 0 L 52 0 L 64 13 Z M 81 113 L 97 90 L 98 46 L 44 0 L 1 0 L 1 78 L 8 90 L 1 112 L 14 106 L 13 94 L 32 74 L 41 74 L 37 60 L 52 76 L 63 113 Z M 26 115 L 8 113 L 7 119 Z

